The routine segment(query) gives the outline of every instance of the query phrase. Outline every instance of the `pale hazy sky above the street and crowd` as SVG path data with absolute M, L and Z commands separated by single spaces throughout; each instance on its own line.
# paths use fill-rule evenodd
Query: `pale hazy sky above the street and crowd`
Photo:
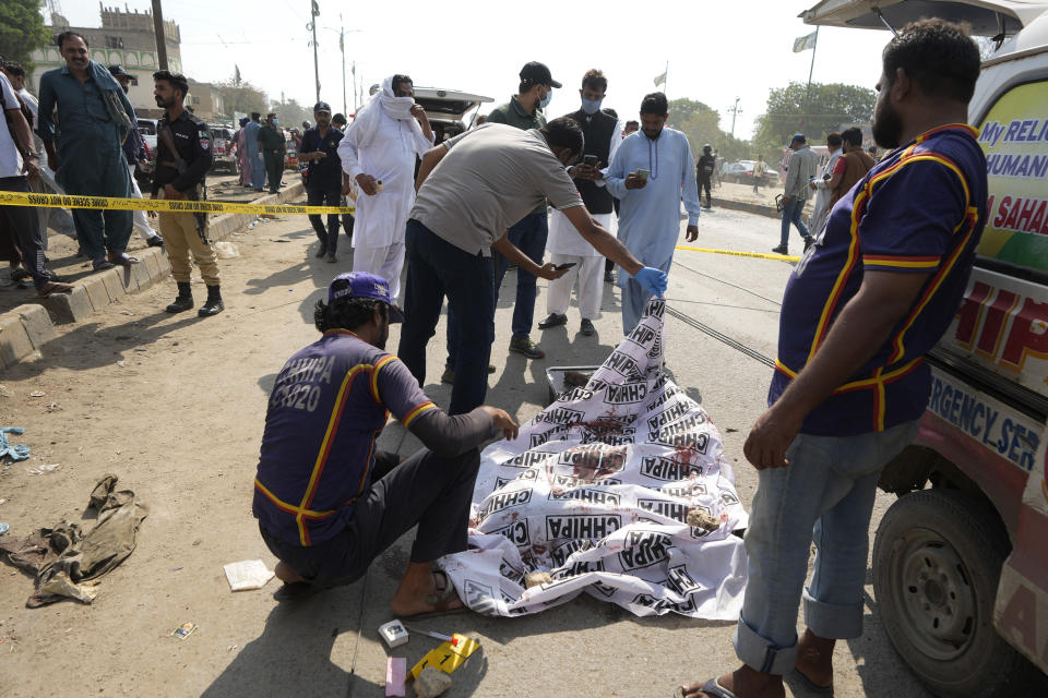
M 621 118 L 636 113 L 653 79 L 669 62 L 670 99 L 690 97 L 720 112 L 739 97 L 735 133 L 748 139 L 753 119 L 764 111 L 767 92 L 790 81 L 806 82 L 811 51 L 793 52 L 794 39 L 812 31 L 797 15 L 818 0 L 668 0 L 645 2 L 335 2 L 319 0 L 321 98 L 343 108 L 340 12 L 347 32 L 346 68 L 357 64 L 365 94 L 371 83 L 407 73 L 418 86 L 462 89 L 505 101 L 516 92 L 517 73 L 531 60 L 549 65 L 562 89 L 553 91 L 547 115 L 579 108 L 579 84 L 590 68 L 608 76 L 604 105 Z M 132 11 L 148 0 L 106 4 Z M 97 0 L 60 0 L 74 26 L 98 26 Z M 315 100 L 309 0 L 164 0 L 164 16 L 181 28 L 187 75 L 210 82 L 233 75 L 278 98 L 283 92 L 311 105 Z M 462 8 L 461 10 L 458 8 Z M 873 87 L 888 32 L 823 27 L 819 31 L 814 82 Z M 352 75 L 346 75 L 353 111 Z M 484 111 L 493 105 L 487 105 Z

